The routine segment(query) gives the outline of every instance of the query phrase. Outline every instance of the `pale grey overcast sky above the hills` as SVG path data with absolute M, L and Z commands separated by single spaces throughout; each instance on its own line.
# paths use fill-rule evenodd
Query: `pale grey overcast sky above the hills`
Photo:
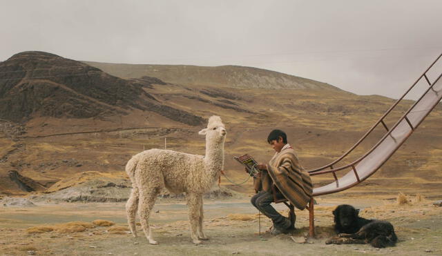
M 0 61 L 41 50 L 83 61 L 253 66 L 398 98 L 442 53 L 441 0 L 0 4 Z

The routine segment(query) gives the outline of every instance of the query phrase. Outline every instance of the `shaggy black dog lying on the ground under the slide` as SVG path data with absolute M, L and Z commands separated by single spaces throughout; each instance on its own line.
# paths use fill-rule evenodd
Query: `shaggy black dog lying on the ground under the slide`
M 372 244 L 376 248 L 394 246 L 397 241 L 393 225 L 388 221 L 364 219 L 359 210 L 348 204 L 341 204 L 334 211 L 334 229 L 338 237 L 325 244 Z

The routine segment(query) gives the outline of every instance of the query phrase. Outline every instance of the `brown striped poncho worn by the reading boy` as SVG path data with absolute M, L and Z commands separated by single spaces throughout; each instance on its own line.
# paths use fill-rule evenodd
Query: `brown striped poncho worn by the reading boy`
M 267 165 L 267 171 L 262 171 L 260 177 L 253 182 L 255 190 L 272 192 L 276 186 L 280 193 L 296 208 L 303 210 L 310 201 L 313 185 L 309 173 L 300 166 L 295 150 L 290 146 L 273 156 Z

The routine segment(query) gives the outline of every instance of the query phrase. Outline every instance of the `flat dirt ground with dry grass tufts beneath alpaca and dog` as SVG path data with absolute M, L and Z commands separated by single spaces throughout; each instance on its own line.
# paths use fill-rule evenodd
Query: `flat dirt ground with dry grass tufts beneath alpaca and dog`
M 442 208 L 434 206 L 434 200 L 409 197 L 408 204 L 398 205 L 396 199 L 376 198 L 317 198 L 316 238 L 307 237 L 307 210 L 296 210 L 293 234 L 271 236 L 265 233 L 271 222 L 258 216 L 249 196 L 209 199 L 204 201 L 204 228 L 210 239 L 198 246 L 191 243 L 183 201 L 155 205 L 151 226 L 160 243 L 156 246 L 148 244 L 140 226 L 139 237 L 128 233 L 124 203 L 0 206 L 0 255 L 442 255 Z M 382 249 L 367 244 L 326 245 L 333 235 L 332 210 L 344 203 L 361 208 L 362 217 L 391 221 L 398 244 Z M 283 204 L 276 208 L 286 211 Z M 91 223 L 97 219 L 115 225 Z

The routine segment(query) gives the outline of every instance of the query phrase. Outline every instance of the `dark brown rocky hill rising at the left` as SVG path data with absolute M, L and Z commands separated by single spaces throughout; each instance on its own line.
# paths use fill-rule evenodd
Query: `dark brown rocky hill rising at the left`
M 20 52 L 0 63 L 0 118 L 22 122 L 35 115 L 103 117 L 124 115 L 132 108 L 202 124 L 202 117 L 157 102 L 143 90 L 151 83 L 164 82 L 152 77 L 121 79 L 48 52 Z

